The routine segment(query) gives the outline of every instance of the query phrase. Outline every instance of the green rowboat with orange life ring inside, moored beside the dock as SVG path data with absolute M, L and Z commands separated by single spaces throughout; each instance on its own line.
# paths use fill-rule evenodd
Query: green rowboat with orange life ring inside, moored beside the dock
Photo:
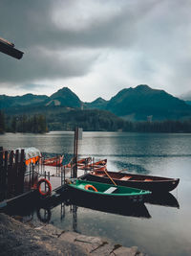
M 94 181 L 86 181 L 76 179 L 74 182 L 67 184 L 67 188 L 74 197 L 79 196 L 86 199 L 131 199 L 141 201 L 143 196 L 149 195 L 149 191 L 139 190 L 136 188 L 128 188 L 123 186 L 115 186 L 114 184 L 99 183 Z

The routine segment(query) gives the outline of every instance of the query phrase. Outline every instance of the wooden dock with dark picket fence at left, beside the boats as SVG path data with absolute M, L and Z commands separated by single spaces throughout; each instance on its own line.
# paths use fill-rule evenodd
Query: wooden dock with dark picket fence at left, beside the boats
M 65 180 L 83 175 L 82 170 L 45 166 L 37 162 L 27 164 L 24 150 L 3 151 L 0 148 L 0 209 L 8 205 L 24 203 L 26 199 L 40 198 L 36 188 L 38 180 L 46 178 L 51 182 L 52 194 L 47 197 L 52 201 L 60 196 Z M 42 161 L 41 161 L 42 162 Z M 46 199 L 47 199 L 46 198 Z

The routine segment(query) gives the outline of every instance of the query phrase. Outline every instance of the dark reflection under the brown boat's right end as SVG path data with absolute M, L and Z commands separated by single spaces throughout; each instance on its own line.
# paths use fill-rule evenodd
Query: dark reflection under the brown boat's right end
M 154 205 L 161 205 L 161 206 L 167 206 L 167 207 L 175 207 L 180 208 L 180 204 L 177 198 L 175 198 L 171 193 L 152 193 L 150 195 L 147 195 L 144 198 L 145 203 L 150 203 Z

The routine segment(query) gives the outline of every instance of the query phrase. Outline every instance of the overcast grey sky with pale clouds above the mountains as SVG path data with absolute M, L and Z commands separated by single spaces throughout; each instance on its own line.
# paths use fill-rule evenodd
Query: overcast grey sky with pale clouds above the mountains
M 191 0 L 1 0 L 0 36 L 23 51 L 0 53 L 0 94 L 109 100 L 148 84 L 191 90 Z

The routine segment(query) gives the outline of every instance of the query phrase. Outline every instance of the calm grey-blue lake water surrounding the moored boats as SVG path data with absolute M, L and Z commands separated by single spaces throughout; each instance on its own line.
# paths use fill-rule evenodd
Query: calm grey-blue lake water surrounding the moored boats
M 0 136 L 0 146 L 73 153 L 74 133 L 8 133 Z M 78 152 L 80 157 L 107 158 L 110 171 L 180 177 L 180 184 L 170 200 L 144 204 L 150 218 L 57 205 L 51 210 L 51 223 L 116 244 L 138 245 L 149 255 L 191 255 L 191 134 L 83 132 Z M 37 218 L 35 212 L 33 218 Z

